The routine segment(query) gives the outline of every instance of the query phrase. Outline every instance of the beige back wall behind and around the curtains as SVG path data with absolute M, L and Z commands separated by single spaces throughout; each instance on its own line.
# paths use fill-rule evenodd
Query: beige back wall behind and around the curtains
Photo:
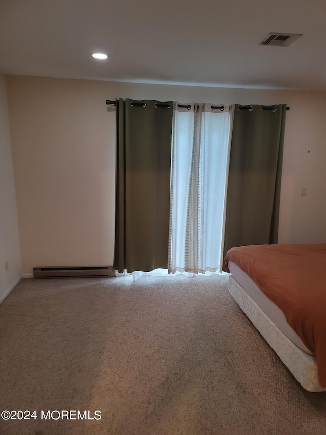
M 288 104 L 279 242 L 326 243 L 326 93 L 9 76 L 24 274 L 112 264 L 116 97 Z

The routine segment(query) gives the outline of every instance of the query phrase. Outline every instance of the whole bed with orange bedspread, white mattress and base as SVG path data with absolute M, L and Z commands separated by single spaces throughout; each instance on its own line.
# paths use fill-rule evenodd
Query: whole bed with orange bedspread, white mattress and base
M 307 391 L 326 391 L 326 244 L 255 245 L 225 257 L 229 293 Z

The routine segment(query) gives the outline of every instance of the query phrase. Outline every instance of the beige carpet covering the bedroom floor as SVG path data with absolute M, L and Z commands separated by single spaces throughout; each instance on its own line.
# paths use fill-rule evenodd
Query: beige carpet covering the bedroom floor
M 23 280 L 0 305 L 0 408 L 37 419 L 1 433 L 325 434 L 326 393 L 298 385 L 227 279 Z

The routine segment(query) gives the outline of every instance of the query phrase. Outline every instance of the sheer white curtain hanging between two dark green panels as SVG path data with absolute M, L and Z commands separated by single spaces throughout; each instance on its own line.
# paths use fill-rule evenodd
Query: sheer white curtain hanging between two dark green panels
M 233 113 L 234 105 L 175 103 L 169 273 L 222 270 Z

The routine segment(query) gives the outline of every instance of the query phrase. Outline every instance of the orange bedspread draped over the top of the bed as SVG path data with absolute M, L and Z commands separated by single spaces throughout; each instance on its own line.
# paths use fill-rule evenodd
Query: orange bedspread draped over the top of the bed
M 326 244 L 254 245 L 230 249 L 238 265 L 284 313 L 315 354 L 318 379 L 326 387 Z

